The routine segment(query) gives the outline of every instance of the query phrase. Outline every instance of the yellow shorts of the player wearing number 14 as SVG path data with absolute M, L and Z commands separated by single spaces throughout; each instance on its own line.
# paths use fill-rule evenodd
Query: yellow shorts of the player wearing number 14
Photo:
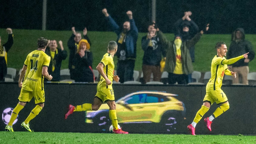
M 34 97 L 35 104 L 44 103 L 45 102 L 45 91 L 27 91 L 21 88 L 19 101 L 20 102 L 30 102 Z

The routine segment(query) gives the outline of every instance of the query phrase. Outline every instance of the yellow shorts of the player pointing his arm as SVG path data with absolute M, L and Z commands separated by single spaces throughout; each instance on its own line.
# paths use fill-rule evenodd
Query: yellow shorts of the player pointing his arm
M 217 104 L 221 104 L 227 102 L 227 96 L 222 91 L 222 89 L 207 91 L 204 96 L 203 102 L 211 102 L 211 105 L 216 102 Z

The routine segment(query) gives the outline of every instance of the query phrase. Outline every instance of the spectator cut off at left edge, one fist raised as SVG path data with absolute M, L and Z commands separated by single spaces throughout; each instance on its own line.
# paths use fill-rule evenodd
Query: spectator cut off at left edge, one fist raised
M 1 44 L 0 36 L 0 81 L 4 81 L 4 77 L 7 74 L 7 52 L 11 49 L 13 44 L 12 29 L 6 29 L 8 33 L 8 40 L 5 44 Z

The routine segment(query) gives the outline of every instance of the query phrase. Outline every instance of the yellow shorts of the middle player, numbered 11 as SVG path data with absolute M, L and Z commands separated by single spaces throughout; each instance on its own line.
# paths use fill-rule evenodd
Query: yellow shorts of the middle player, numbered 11
M 107 88 L 101 91 L 97 91 L 95 97 L 98 97 L 99 99 L 101 99 L 102 102 L 105 102 L 106 100 L 114 101 L 115 100 L 114 90 L 112 88 Z

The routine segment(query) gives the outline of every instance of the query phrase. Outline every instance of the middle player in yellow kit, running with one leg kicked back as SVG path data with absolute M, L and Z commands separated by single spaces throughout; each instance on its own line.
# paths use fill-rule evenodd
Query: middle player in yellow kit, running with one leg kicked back
M 118 75 L 114 75 L 115 64 L 113 57 L 117 51 L 117 43 L 110 41 L 108 43 L 108 52 L 103 56 L 96 69 L 99 71 L 100 80 L 97 85 L 97 93 L 94 97 L 92 104 L 85 103 L 83 105 L 69 105 L 68 111 L 65 114 L 65 119 L 72 114 L 74 111 L 87 111 L 87 110 L 98 110 L 103 102 L 107 102 L 109 106 L 109 117 L 113 125 L 113 133 L 116 134 L 128 134 L 118 128 L 118 121 L 116 116 L 116 103 L 114 91 L 112 88 L 112 81 L 119 81 Z

